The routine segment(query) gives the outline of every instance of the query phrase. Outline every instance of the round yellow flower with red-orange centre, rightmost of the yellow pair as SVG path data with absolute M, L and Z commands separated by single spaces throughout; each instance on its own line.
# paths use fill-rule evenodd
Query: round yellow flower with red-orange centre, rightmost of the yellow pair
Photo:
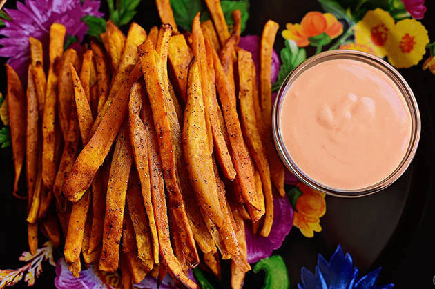
M 415 19 L 398 21 L 387 41 L 388 61 L 396 68 L 416 65 L 426 53 L 427 30 Z

